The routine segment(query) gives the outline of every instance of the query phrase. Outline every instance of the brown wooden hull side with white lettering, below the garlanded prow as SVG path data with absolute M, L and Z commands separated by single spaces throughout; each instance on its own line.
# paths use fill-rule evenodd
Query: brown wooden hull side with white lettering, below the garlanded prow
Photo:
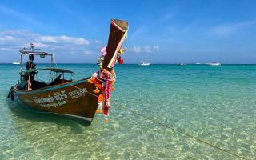
M 98 108 L 94 84 L 81 79 L 39 90 L 14 90 L 15 100 L 26 109 L 68 116 L 90 126 Z M 93 94 L 92 94 L 93 93 Z

